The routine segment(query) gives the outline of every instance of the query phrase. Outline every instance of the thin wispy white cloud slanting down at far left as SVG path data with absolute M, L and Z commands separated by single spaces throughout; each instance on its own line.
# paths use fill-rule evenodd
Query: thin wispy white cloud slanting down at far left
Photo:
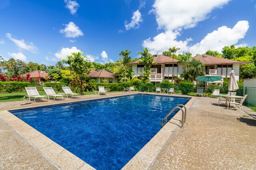
M 32 53 L 36 53 L 37 47 L 34 45 L 34 43 L 26 43 L 24 39 L 18 40 L 12 38 L 12 34 L 6 33 L 6 37 L 8 37 L 12 42 L 14 42 L 20 49 L 25 49 L 28 51 L 31 51 Z

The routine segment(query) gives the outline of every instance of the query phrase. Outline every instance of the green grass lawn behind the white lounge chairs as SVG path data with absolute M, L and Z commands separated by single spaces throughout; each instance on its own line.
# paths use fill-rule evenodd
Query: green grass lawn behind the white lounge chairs
M 56 94 L 64 93 L 63 91 L 55 91 L 55 92 Z M 38 93 L 40 95 L 43 95 L 43 94 L 46 95 L 44 91 L 38 91 Z M 84 95 L 90 95 L 90 94 L 95 94 L 95 92 L 84 92 Z M 21 101 L 26 95 L 28 95 L 26 92 L 0 93 L 0 102 Z

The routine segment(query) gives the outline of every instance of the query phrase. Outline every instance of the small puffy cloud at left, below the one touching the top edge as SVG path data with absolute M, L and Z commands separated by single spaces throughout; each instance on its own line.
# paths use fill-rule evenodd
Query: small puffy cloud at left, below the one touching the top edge
M 60 29 L 60 33 L 63 33 L 67 38 L 76 38 L 79 36 L 83 36 L 84 33 L 74 22 L 69 22 L 66 24 L 64 29 Z

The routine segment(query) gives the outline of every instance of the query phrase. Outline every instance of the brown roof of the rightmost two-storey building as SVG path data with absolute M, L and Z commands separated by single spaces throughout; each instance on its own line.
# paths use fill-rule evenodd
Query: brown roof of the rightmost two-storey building
M 194 57 L 196 60 L 201 60 L 203 64 L 234 64 L 234 63 L 240 63 L 240 64 L 248 64 L 250 62 L 244 62 L 244 61 L 234 61 L 230 59 L 223 59 L 220 57 L 214 57 L 211 55 L 197 55 Z

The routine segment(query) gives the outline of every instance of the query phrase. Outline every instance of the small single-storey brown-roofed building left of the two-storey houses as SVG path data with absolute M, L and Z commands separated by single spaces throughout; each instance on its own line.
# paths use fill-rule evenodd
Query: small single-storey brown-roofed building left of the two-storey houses
M 91 70 L 90 73 L 87 75 L 89 78 L 94 78 L 97 83 L 103 83 L 103 80 L 106 80 L 105 83 L 117 83 L 118 76 L 106 71 L 106 70 Z

